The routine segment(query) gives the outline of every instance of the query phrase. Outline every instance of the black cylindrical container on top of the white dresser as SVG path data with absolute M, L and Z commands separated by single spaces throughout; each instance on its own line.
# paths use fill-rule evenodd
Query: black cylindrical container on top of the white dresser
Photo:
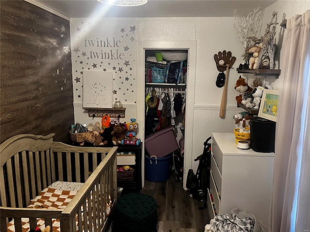
M 275 152 L 276 122 L 261 117 L 250 120 L 250 144 L 257 152 Z

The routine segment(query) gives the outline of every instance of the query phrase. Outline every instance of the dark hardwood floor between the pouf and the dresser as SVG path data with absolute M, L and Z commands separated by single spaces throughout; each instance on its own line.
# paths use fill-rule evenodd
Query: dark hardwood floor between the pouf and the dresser
M 210 222 L 208 209 L 199 209 L 203 202 L 190 197 L 189 192 L 183 189 L 183 183 L 175 182 L 173 172 L 164 182 L 146 180 L 141 193 L 155 198 L 163 232 L 204 232 L 204 226 Z

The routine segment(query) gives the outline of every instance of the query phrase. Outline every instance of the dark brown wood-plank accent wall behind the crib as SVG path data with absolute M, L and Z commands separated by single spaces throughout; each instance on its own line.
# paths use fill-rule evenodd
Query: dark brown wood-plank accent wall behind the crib
M 69 142 L 74 124 L 69 21 L 23 0 L 1 0 L 0 14 L 0 142 L 51 132 L 54 141 Z

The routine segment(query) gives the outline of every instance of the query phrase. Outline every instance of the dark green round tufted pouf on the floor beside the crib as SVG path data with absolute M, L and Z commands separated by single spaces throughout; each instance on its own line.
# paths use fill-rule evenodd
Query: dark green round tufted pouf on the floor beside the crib
M 112 232 L 156 232 L 157 203 L 149 195 L 127 193 L 115 206 Z

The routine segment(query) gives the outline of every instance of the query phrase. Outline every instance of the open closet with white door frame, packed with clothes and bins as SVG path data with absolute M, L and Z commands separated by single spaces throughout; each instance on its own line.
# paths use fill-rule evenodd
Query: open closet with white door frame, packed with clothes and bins
M 186 189 L 192 160 L 196 46 L 196 42 L 138 42 L 137 118 L 143 186 L 144 179 L 167 180 L 170 166 L 182 165 L 182 171 L 174 172 L 178 173 L 176 181 L 183 181 Z M 178 155 L 181 163 L 173 163 L 173 155 Z M 152 162 L 160 162 L 161 167 Z

